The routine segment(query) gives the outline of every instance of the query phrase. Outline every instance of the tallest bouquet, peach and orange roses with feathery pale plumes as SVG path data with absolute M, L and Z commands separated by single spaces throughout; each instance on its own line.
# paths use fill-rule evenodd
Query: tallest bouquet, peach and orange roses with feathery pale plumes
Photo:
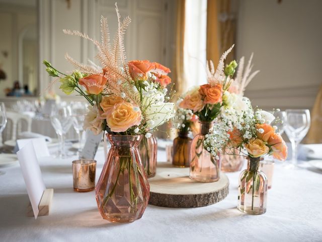
M 90 103 L 85 117 L 85 129 L 95 134 L 138 135 L 147 138 L 156 127 L 168 122 L 174 115 L 174 103 L 167 102 L 167 85 L 171 83 L 169 68 L 149 61 L 126 62 L 123 45 L 125 30 L 130 23 L 127 17 L 119 20 L 118 32 L 110 43 L 107 19 L 101 18 L 102 41 L 90 38 L 76 30 L 63 30 L 65 34 L 81 36 L 92 41 L 97 49 L 96 58 L 101 67 L 78 63 L 67 53 L 66 59 L 77 68 L 66 75 L 44 61 L 46 71 L 58 77 L 60 89 L 67 95 L 76 92 Z

